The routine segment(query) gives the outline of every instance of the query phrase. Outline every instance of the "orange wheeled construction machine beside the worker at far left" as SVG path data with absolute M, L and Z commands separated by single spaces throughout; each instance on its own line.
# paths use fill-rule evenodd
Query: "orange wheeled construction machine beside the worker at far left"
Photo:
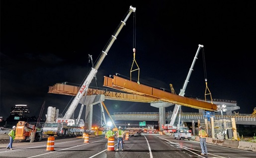
M 14 140 L 30 140 L 30 143 L 32 143 L 34 140 L 39 142 L 42 138 L 42 131 L 37 130 L 35 125 L 29 124 L 25 121 L 19 121 L 17 123 Z

